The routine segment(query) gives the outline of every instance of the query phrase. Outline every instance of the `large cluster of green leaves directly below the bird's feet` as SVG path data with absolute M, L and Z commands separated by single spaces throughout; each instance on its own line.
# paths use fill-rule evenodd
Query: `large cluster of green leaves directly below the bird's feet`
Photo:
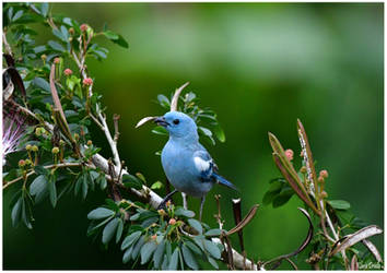
M 216 260 L 223 246 L 213 242 L 211 237 L 219 236 L 221 230 L 211 229 L 194 216 L 192 211 L 173 204 L 154 211 L 141 202 L 108 199 L 105 206 L 89 213 L 92 222 L 87 234 L 102 234 L 104 245 L 120 244 L 122 262 L 131 261 L 132 268 L 140 263 L 148 269 L 198 270 L 207 261 L 219 269 Z

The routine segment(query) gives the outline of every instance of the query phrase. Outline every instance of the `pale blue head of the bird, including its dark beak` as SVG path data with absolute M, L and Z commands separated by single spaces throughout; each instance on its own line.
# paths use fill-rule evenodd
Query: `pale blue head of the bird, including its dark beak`
M 164 127 L 172 138 L 198 139 L 198 128 L 188 115 L 180 111 L 168 111 L 163 117 L 154 119 L 159 126 Z

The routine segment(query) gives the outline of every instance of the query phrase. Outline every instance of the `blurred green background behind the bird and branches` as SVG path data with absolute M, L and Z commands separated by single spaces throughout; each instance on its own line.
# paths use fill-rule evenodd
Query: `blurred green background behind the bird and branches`
M 163 114 L 153 103 L 157 94 L 189 81 L 186 91 L 219 115 L 226 142 L 204 144 L 220 173 L 241 189 L 244 213 L 261 203 L 269 180 L 280 175 L 268 131 L 297 155 L 300 118 L 317 169 L 329 171 L 329 198 L 348 200 L 355 215 L 384 227 L 383 3 L 58 3 L 52 12 L 96 31 L 107 22 L 129 41 L 126 50 L 101 38 L 108 59 L 87 66 L 108 116 L 121 115 L 119 150 L 130 171 L 164 181 L 154 152 L 166 139 L 134 124 Z M 94 135 L 109 156 L 103 134 Z M 64 197 L 56 210 L 48 201 L 39 204 L 28 230 L 11 227 L 13 191 L 3 199 L 3 269 L 128 268 L 119 247 L 105 251 L 86 237 L 85 216 L 104 193 L 86 201 Z M 236 194 L 221 187 L 208 195 L 204 222 L 215 226 L 214 193 L 222 194 L 231 228 Z M 198 200 L 189 202 L 198 209 Z M 280 209 L 261 206 L 245 229 L 248 256 L 267 260 L 297 248 L 307 232 L 300 205 L 293 197 Z M 383 237 L 372 239 L 382 252 Z

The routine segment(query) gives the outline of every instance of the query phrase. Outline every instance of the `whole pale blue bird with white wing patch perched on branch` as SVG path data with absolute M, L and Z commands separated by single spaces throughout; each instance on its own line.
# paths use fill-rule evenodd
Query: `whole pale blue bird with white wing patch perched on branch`
M 218 174 L 218 166 L 211 155 L 199 143 L 198 128 L 188 115 L 180 111 L 168 111 L 154 119 L 159 126 L 169 132 L 161 159 L 164 173 L 175 190 L 167 194 L 160 207 L 177 191 L 194 198 L 201 198 L 200 216 L 206 194 L 218 182 L 237 190 L 236 187 Z

